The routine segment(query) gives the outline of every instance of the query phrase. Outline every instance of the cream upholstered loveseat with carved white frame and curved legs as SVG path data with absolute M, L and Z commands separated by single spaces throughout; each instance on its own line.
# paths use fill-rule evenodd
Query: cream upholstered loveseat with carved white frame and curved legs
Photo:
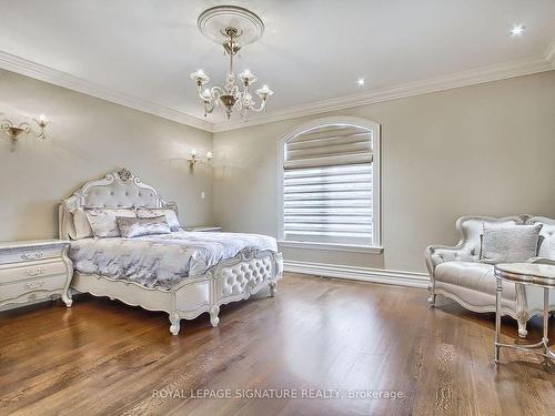
M 555 264 L 555 220 L 527 215 L 494 219 L 463 216 L 456 229 L 461 241 L 455 246 L 431 245 L 426 248 L 426 266 L 430 273 L 430 304 L 435 306 L 437 295 L 455 301 L 474 312 L 495 312 L 496 278 L 494 265 L 481 262 L 482 231 L 486 225 L 543 224 L 536 257 L 529 262 Z M 534 315 L 541 315 L 543 294 L 539 287 L 503 282 L 501 311 L 518 322 L 518 335 L 526 337 L 526 324 Z M 551 291 L 549 311 L 555 311 L 555 291 Z

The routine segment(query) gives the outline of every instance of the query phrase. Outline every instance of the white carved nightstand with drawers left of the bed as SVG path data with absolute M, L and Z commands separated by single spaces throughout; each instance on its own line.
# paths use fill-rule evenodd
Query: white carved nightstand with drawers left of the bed
M 58 297 L 71 306 L 68 250 L 64 240 L 0 243 L 0 310 Z

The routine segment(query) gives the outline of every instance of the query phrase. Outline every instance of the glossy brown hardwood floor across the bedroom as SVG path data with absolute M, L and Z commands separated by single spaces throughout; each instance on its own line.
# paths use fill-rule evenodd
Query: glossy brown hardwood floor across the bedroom
M 493 316 L 430 310 L 426 295 L 286 274 L 276 297 L 224 306 L 218 328 L 182 321 L 178 337 L 167 314 L 89 296 L 0 313 L 0 414 L 553 415 L 555 375 L 538 358 L 502 351 L 496 368 Z M 539 333 L 535 318 L 529 341 Z M 504 319 L 503 341 L 516 338 Z M 297 397 L 242 397 L 264 392 Z

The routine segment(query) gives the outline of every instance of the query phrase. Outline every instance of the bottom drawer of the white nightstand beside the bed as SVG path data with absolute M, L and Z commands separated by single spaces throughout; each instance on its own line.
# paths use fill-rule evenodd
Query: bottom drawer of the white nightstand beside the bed
M 0 285 L 0 304 L 26 295 L 21 302 L 32 302 L 49 296 L 50 292 L 61 291 L 65 286 L 68 276 L 64 274 L 34 278 Z

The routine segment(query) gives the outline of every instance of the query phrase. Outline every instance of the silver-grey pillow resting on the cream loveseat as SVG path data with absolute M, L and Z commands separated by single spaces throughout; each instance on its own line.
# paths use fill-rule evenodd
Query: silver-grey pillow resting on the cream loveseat
M 519 263 L 536 255 L 542 224 L 486 225 L 482 237 L 482 262 Z

